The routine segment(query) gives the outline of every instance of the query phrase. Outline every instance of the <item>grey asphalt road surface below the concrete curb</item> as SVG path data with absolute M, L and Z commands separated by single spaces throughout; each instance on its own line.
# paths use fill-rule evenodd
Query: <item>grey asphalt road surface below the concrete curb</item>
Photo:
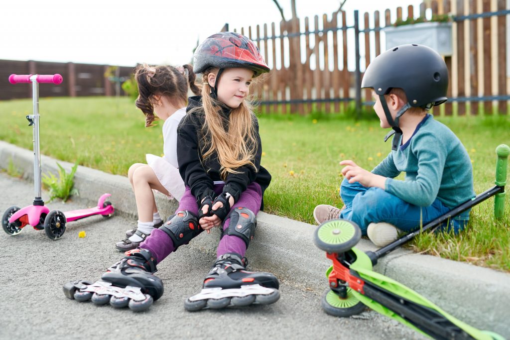
M 32 203 L 32 182 L 0 173 L 1 213 Z M 47 194 L 43 194 L 47 199 Z M 115 200 L 112 199 L 115 205 Z M 50 209 L 94 205 L 80 198 Z M 181 247 L 158 265 L 165 293 L 149 310 L 134 313 L 67 299 L 62 284 L 96 280 L 122 257 L 114 247 L 135 221 L 100 216 L 69 222 L 57 241 L 26 227 L 17 236 L 0 231 L 1 339 L 422 339 L 396 321 L 365 311 L 335 318 L 320 307 L 323 291 L 281 280 L 281 299 L 272 305 L 187 312 L 184 300 L 201 289 L 214 253 Z M 79 238 L 80 231 L 86 232 Z M 203 233 L 200 237 L 207 237 Z M 217 242 L 211 238 L 211 242 Z M 249 267 L 248 267 L 249 269 Z M 324 280 L 324 287 L 327 286 Z

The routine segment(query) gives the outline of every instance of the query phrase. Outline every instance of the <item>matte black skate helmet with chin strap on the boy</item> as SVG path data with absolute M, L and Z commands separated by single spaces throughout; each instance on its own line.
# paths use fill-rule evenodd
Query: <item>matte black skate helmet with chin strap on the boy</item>
M 433 49 L 423 45 L 409 44 L 393 47 L 380 54 L 368 65 L 362 88 L 373 88 L 379 96 L 388 123 L 396 132 L 393 150 L 402 134 L 398 127 L 399 117 L 411 107 L 430 109 L 444 103 L 448 98 L 448 69 L 443 58 Z M 401 88 L 407 96 L 407 103 L 391 117 L 385 94 L 392 88 Z M 385 137 L 385 141 L 393 134 Z

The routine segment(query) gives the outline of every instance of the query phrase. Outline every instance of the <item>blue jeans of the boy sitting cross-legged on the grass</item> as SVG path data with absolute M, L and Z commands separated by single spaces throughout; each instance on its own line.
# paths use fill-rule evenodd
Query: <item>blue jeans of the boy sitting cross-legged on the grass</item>
M 418 206 L 392 195 L 380 188 L 367 188 L 359 182 L 349 184 L 347 179 L 342 181 L 340 196 L 345 208 L 340 218 L 353 221 L 361 228 L 362 234 L 367 234 L 367 227 L 372 222 L 387 222 L 400 230 L 413 231 L 433 219 L 448 213 L 451 209 L 436 199 L 429 206 Z M 450 220 L 438 230 L 450 230 L 457 233 L 464 228 L 467 221 Z

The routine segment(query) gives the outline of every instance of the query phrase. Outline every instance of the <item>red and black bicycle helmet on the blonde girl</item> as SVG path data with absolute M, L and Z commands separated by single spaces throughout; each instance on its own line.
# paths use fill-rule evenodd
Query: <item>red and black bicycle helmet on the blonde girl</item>
M 235 32 L 213 34 L 196 48 L 193 72 L 202 73 L 209 67 L 246 67 L 253 70 L 253 77 L 269 72 L 259 47 Z

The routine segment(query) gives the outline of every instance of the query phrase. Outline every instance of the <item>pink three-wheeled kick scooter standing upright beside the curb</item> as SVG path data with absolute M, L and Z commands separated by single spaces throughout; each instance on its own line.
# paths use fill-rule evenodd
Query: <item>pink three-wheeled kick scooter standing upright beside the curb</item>
M 9 235 L 14 236 L 21 232 L 26 225 L 31 225 L 36 230 L 46 232 L 46 236 L 52 240 L 62 237 L 65 232 L 67 222 L 79 220 L 93 215 L 103 215 L 110 217 L 113 215 L 114 208 L 112 203 L 106 200 L 110 194 L 103 194 L 97 201 L 97 206 L 81 210 L 73 210 L 62 213 L 59 210 L 49 211 L 41 198 L 41 157 L 39 151 L 39 83 L 60 84 L 62 83 L 60 74 L 11 74 L 9 82 L 32 83 L 32 99 L 34 104 L 34 114 L 28 115 L 27 119 L 30 125 L 34 126 L 34 203 L 24 208 L 17 206 L 9 207 L 2 216 L 2 228 Z

